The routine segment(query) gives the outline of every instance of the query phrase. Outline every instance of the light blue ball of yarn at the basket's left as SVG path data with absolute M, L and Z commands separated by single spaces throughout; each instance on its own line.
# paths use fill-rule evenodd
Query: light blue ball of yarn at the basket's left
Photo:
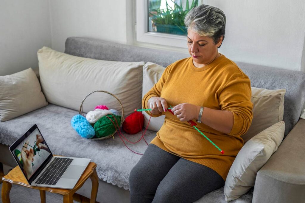
M 72 117 L 71 125 L 81 137 L 92 138 L 95 136 L 94 128 L 90 125 L 88 120 L 80 114 Z

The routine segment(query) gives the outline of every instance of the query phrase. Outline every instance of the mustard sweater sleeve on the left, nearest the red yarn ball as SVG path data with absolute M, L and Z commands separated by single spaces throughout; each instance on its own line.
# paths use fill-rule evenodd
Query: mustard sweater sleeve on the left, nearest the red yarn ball
M 170 67 L 170 65 L 165 68 L 159 81 L 156 84 L 154 84 L 154 86 L 143 96 L 143 98 L 142 98 L 142 108 L 143 109 L 149 109 L 149 106 L 147 106 L 147 102 L 150 98 L 160 97 L 163 85 L 166 82 L 167 76 L 169 74 L 169 69 L 170 69 L 169 67 Z M 145 112 L 150 116 L 150 112 L 148 112 L 148 111 L 145 111 Z M 159 117 L 161 115 L 162 115 L 162 113 L 159 113 L 156 115 L 152 114 L 152 117 Z

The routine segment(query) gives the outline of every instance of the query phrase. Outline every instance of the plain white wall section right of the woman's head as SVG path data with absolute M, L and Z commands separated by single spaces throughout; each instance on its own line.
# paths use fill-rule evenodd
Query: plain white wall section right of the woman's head
M 204 0 L 204 3 L 220 8 L 227 17 L 226 36 L 219 51 L 228 58 L 305 71 L 304 0 Z

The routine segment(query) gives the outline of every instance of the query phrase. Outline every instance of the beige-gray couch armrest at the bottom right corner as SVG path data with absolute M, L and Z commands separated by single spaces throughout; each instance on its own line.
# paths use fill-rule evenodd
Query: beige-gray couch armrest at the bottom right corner
M 300 119 L 258 171 L 252 202 L 304 202 L 305 120 Z

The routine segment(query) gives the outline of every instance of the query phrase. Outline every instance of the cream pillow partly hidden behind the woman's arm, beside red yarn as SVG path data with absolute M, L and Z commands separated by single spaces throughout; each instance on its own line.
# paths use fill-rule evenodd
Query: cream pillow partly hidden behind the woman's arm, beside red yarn
M 164 72 L 165 68 L 163 66 L 160 66 L 158 64 L 147 62 L 143 66 L 143 92 L 142 92 L 142 98 L 144 95 L 153 87 L 155 83 L 158 82 L 160 77 L 162 76 L 162 73 Z M 142 111 L 142 114 L 144 116 L 144 126 L 147 126 L 150 116 Z M 149 126 L 147 129 L 153 130 L 153 131 L 159 131 L 161 126 L 163 125 L 165 116 L 159 116 L 159 117 L 151 117 Z

